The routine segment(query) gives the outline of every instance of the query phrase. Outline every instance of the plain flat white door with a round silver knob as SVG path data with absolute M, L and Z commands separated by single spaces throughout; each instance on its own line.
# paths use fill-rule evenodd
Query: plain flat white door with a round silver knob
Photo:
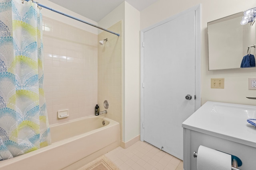
M 196 108 L 195 12 L 145 31 L 143 41 L 144 141 L 183 160 L 182 122 Z

